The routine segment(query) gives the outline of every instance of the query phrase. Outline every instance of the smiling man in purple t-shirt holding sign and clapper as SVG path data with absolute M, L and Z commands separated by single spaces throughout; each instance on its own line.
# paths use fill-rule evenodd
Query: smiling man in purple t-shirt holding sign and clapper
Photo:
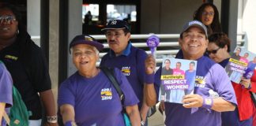
M 185 95 L 183 104 L 165 102 L 167 126 L 220 126 L 220 112 L 233 111 L 237 105 L 232 83 L 224 69 L 204 56 L 208 45 L 205 25 L 198 20 L 185 24 L 179 37 L 183 59 L 198 61 L 194 95 Z M 152 74 L 156 61 L 149 56 L 145 62 L 146 73 Z M 160 84 L 160 73 L 156 72 L 155 83 Z M 146 83 L 146 103 L 156 103 L 153 83 Z M 151 93 L 151 94 L 150 94 Z M 217 95 L 216 95 L 217 94 Z

